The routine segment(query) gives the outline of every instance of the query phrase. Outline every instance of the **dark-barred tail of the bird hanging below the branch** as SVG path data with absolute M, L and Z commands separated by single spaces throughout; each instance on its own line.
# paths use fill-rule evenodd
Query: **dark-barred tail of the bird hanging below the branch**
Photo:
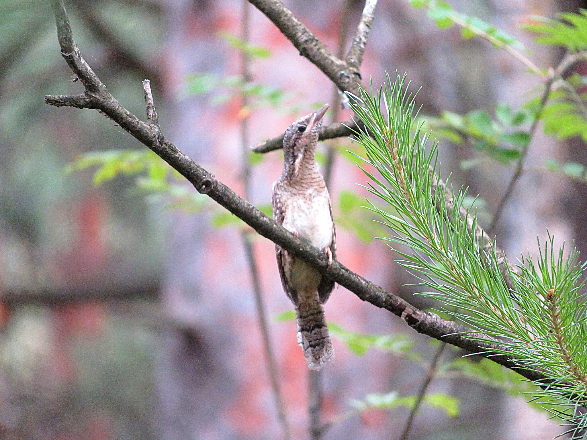
M 296 307 L 298 324 L 298 344 L 310 370 L 320 370 L 334 359 L 334 350 L 330 343 L 328 327 L 324 317 L 324 308 L 318 300 L 318 293 L 311 299 L 300 302 Z

